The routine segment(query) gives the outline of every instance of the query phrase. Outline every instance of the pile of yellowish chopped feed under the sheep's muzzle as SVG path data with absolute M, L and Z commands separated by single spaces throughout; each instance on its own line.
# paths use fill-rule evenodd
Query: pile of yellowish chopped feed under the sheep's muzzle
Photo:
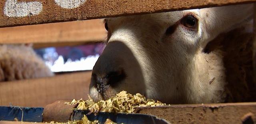
M 129 94 L 126 91 L 119 92 L 116 96 L 109 98 L 108 100 L 100 100 L 99 102 L 93 102 L 92 98 L 88 96 L 88 100 L 72 100 L 66 104 L 78 104 L 78 110 L 90 110 L 90 113 L 98 112 L 123 112 L 133 113 L 134 107 L 154 107 L 164 106 L 162 102 L 146 99 L 145 96 L 137 93 L 135 95 Z

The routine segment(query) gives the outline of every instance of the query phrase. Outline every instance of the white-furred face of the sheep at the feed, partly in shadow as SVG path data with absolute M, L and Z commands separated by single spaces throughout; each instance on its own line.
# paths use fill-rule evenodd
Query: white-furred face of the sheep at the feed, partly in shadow
M 225 95 L 221 56 L 204 54 L 202 49 L 218 34 L 248 18 L 251 7 L 237 5 L 108 18 L 108 44 L 93 73 L 123 68 L 126 78 L 109 86 L 105 94 L 92 97 L 108 98 L 126 90 L 172 104 L 221 102 Z M 234 14 L 236 9 L 243 11 Z M 187 15 L 198 19 L 192 30 L 180 23 Z M 175 27 L 174 31 L 166 34 L 170 26 Z M 214 59 L 206 62 L 205 58 Z M 213 78 L 218 83 L 209 85 Z M 98 94 L 93 85 L 90 94 Z

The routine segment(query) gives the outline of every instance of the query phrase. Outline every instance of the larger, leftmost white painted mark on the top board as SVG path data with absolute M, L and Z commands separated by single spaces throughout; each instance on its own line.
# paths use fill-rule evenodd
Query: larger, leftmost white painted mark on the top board
M 38 15 L 42 11 L 42 2 L 18 2 L 6 0 L 4 15 L 8 17 L 24 17 Z

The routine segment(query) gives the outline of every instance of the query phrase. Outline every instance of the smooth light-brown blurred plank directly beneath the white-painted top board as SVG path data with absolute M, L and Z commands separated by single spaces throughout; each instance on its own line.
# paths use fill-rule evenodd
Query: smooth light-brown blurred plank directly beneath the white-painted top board
M 0 44 L 33 43 L 36 48 L 102 42 L 101 19 L 0 28 Z M 62 44 L 60 44 L 60 42 Z

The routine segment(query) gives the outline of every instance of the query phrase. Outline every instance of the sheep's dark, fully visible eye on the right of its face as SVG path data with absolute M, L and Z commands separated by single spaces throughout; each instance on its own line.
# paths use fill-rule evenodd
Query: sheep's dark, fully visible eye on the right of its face
M 182 18 L 181 24 L 187 28 L 194 28 L 196 26 L 197 21 L 197 18 L 195 18 L 192 15 L 189 15 Z

